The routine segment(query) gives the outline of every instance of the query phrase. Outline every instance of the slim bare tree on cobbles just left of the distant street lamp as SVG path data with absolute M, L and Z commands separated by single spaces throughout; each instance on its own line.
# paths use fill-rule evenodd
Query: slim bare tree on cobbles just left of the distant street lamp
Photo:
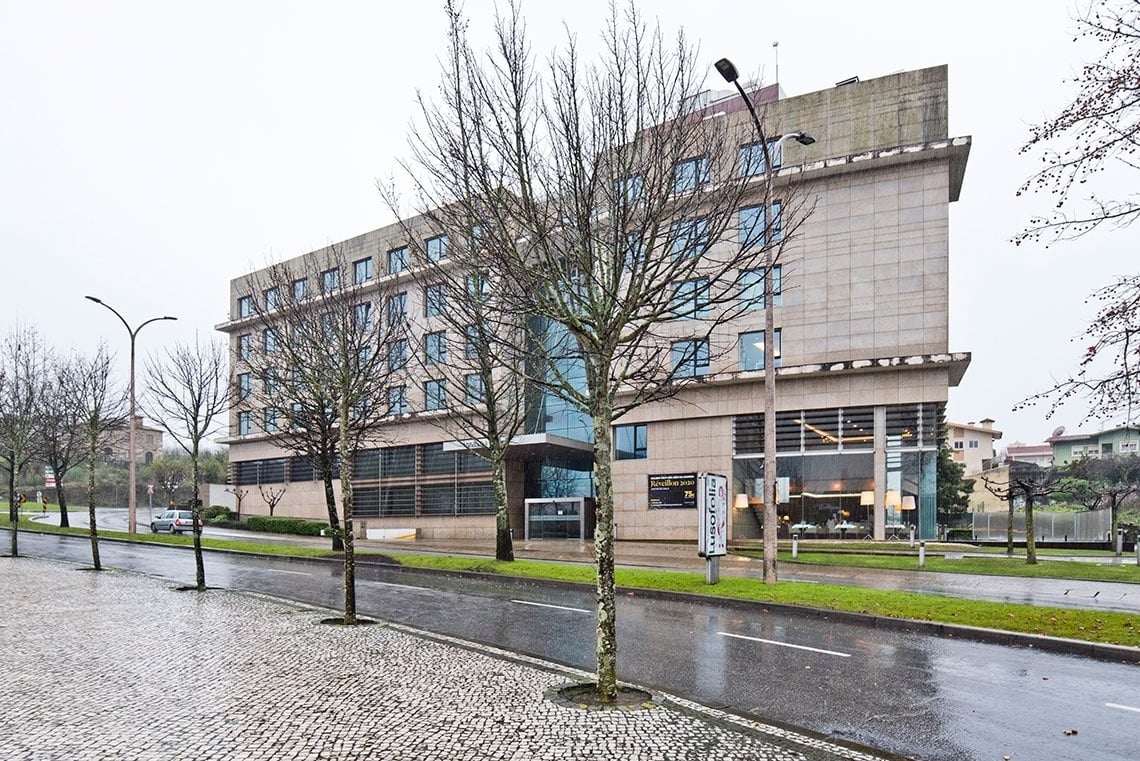
M 99 531 L 95 516 L 95 466 L 100 445 L 107 436 L 121 431 L 128 419 L 127 390 L 116 388 L 111 380 L 112 357 L 106 344 L 99 344 L 91 358 L 79 357 L 73 363 L 72 382 L 75 384 L 75 406 L 80 411 L 79 427 L 87 447 L 87 519 L 91 540 L 91 564 L 101 570 L 99 562 Z

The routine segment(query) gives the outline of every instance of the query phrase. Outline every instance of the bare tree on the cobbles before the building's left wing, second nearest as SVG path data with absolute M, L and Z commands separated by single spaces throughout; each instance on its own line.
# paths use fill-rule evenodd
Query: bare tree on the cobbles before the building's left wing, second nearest
M 260 433 L 307 457 L 324 483 L 329 524 L 344 551 L 344 623 L 356 619 L 352 474 L 357 452 L 385 436 L 391 368 L 386 347 L 405 335 L 399 319 L 382 319 L 382 294 L 368 280 L 343 283 L 341 256 L 274 264 L 250 278 L 260 346 L 239 357 L 235 407 Z M 311 284 L 311 285 L 310 285 Z M 337 521 L 333 480 L 341 485 Z

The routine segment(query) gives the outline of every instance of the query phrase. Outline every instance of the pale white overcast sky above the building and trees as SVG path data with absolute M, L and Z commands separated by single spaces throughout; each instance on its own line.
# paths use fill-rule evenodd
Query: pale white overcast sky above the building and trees
M 1080 406 L 1050 420 L 1011 411 L 1075 366 L 1086 296 L 1137 268 L 1140 226 L 1049 249 L 1009 243 L 1049 207 L 1015 198 L 1034 165 L 1018 156 L 1028 125 L 1072 97 L 1096 54 L 1073 42 L 1076 5 L 640 7 L 684 27 L 710 72 L 727 56 L 772 81 L 777 50 L 788 96 L 947 64 L 951 136 L 974 138 L 950 252 L 950 349 L 974 360 L 948 417 L 992 417 L 1005 444 L 1099 427 L 1081 425 Z M 472 36 L 488 39 L 494 3 L 466 8 Z M 593 49 L 605 8 L 526 1 L 535 51 L 565 27 Z M 0 0 L 0 327 L 32 324 L 62 350 L 105 338 L 125 365 L 127 332 L 91 294 L 132 324 L 179 318 L 140 334 L 142 358 L 212 334 L 230 278 L 391 221 L 375 182 L 407 154 L 416 91 L 434 87 L 443 50 L 441 0 Z

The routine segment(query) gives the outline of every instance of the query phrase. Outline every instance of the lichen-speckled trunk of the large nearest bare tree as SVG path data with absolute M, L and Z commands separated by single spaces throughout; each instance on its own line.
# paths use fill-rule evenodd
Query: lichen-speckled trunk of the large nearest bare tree
M 613 574 L 613 473 L 610 464 L 612 407 L 595 394 L 594 480 L 596 526 L 594 559 L 597 564 L 597 698 L 613 703 L 618 697 L 618 631 Z

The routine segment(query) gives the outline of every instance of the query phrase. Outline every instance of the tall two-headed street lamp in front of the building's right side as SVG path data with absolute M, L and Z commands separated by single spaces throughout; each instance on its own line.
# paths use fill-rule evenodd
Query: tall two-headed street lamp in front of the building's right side
M 740 74 L 736 67 L 727 58 L 722 58 L 714 64 L 720 76 L 736 85 L 736 91 L 748 106 L 748 113 L 752 116 L 752 124 L 756 125 L 756 133 L 759 137 L 760 150 L 764 152 L 764 171 L 767 174 L 764 191 L 764 214 L 765 219 L 771 216 L 769 196 L 772 195 L 773 167 L 772 157 L 781 150 L 785 140 L 796 140 L 801 146 L 809 146 L 815 142 L 807 132 L 790 132 L 781 136 L 772 148 L 768 148 L 767 137 L 760 117 L 756 115 L 752 99 L 740 85 Z M 774 287 L 772 280 L 772 245 L 764 248 L 764 581 L 775 583 L 776 581 L 776 527 L 779 509 L 779 492 L 776 491 L 776 369 L 775 369 L 775 310 L 773 305 Z

